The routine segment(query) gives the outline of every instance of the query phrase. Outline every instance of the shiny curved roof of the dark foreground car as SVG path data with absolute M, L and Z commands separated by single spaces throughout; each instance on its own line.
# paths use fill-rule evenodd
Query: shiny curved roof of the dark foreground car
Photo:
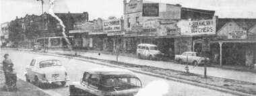
M 86 72 L 101 76 L 137 77 L 131 70 L 123 68 L 91 68 Z

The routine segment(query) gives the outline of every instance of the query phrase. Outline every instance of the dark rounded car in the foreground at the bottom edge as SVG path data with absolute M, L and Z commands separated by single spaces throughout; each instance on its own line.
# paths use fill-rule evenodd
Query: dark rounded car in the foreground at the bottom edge
M 81 81 L 69 85 L 73 95 L 135 95 L 142 88 L 140 79 L 130 70 L 121 68 L 92 68 Z

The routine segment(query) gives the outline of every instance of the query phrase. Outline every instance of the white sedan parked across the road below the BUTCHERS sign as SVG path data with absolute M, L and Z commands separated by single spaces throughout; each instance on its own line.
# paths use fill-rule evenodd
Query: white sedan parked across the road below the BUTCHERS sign
M 181 55 L 175 55 L 174 60 L 177 60 L 179 63 L 183 64 L 184 62 L 189 62 L 189 64 L 201 65 L 205 62 L 205 58 L 200 56 L 198 52 L 184 52 Z M 210 59 L 206 58 L 206 62 L 209 62 Z

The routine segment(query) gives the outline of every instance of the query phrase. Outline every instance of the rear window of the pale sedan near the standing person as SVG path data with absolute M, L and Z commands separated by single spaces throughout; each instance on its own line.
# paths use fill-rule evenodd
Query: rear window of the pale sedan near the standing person
M 39 63 L 39 68 L 44 68 L 49 66 L 61 66 L 61 62 L 59 60 L 44 60 Z

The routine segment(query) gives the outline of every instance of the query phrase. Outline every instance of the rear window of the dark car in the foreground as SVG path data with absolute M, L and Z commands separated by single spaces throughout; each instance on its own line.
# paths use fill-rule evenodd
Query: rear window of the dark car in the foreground
M 104 79 L 105 91 L 119 91 L 141 87 L 141 82 L 137 78 L 108 78 Z

